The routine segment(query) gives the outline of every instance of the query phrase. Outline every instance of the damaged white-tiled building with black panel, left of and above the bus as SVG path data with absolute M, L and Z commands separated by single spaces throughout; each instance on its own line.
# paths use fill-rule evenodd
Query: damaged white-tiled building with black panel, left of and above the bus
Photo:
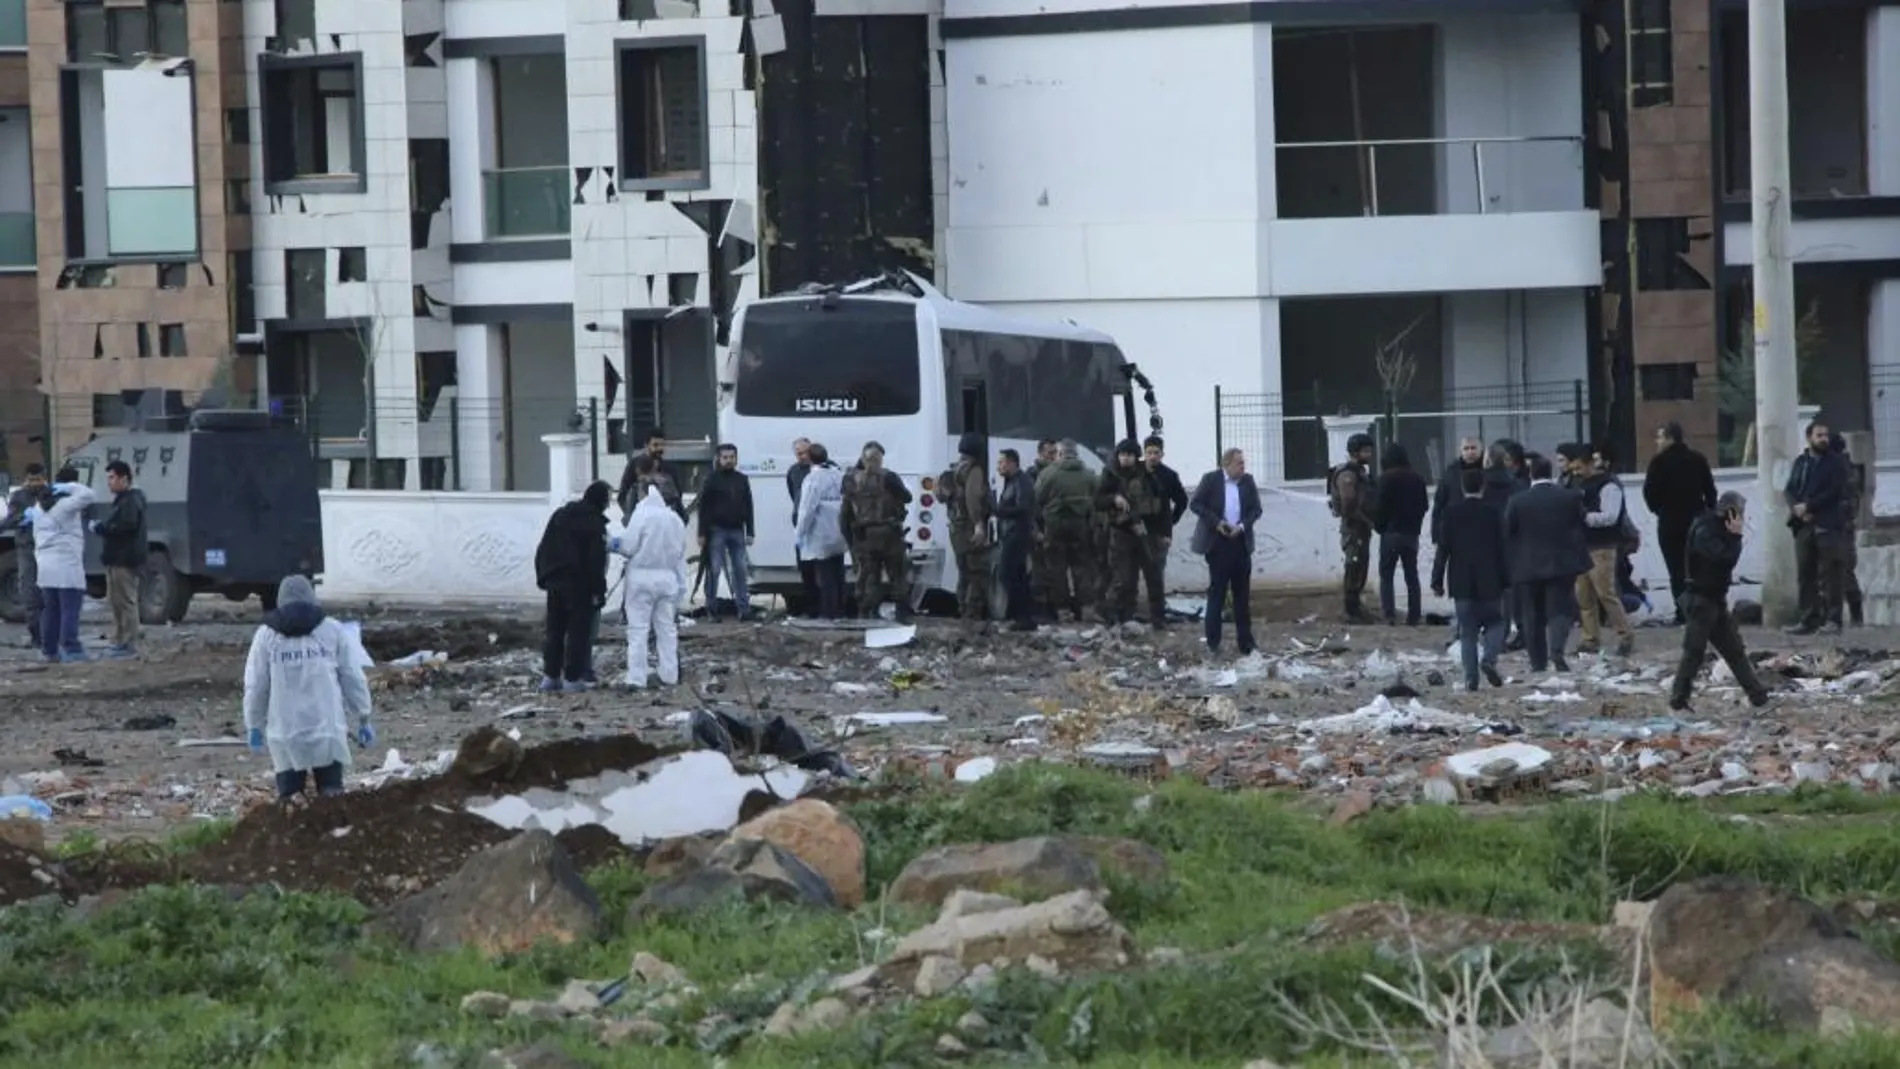
M 258 393 L 331 486 L 705 461 L 739 302 L 933 270 L 918 0 L 245 0 L 245 51 Z

